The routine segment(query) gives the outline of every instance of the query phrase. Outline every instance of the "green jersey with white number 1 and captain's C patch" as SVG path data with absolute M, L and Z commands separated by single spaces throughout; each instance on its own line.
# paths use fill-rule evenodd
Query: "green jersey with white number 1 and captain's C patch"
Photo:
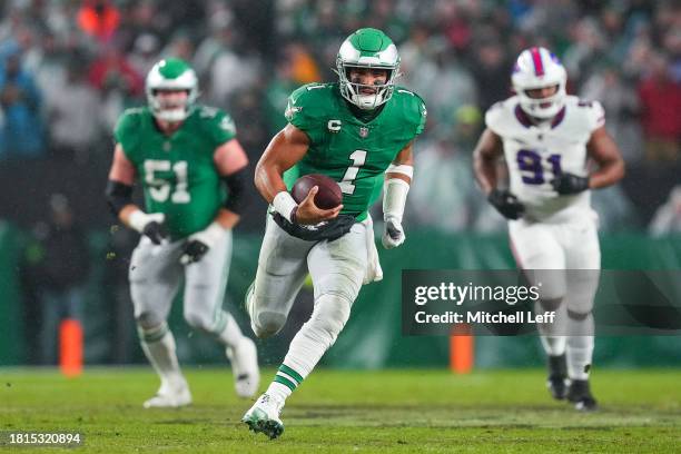
M 402 87 L 395 87 L 381 109 L 371 120 L 357 118 L 338 83 L 310 83 L 294 91 L 286 119 L 309 137 L 309 148 L 285 174 L 286 186 L 290 189 L 304 175 L 324 174 L 340 185 L 340 213 L 364 220 L 381 195 L 385 170 L 423 131 L 426 119 L 421 97 Z

